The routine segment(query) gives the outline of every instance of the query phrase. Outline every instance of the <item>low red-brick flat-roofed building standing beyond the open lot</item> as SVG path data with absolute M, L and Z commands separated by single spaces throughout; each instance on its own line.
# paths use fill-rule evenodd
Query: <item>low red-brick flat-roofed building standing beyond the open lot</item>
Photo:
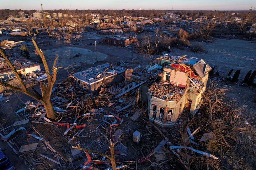
M 125 47 L 136 42 L 137 39 L 131 36 L 106 36 L 103 38 L 103 44 L 110 44 Z

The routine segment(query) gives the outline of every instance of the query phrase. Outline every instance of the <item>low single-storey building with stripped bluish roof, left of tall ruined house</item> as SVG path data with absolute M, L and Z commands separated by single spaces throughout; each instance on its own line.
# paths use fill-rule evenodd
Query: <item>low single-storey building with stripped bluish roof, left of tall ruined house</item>
M 77 72 L 71 77 L 75 78 L 82 88 L 96 94 L 101 90 L 101 87 L 108 87 L 124 80 L 125 70 L 124 67 L 106 63 Z

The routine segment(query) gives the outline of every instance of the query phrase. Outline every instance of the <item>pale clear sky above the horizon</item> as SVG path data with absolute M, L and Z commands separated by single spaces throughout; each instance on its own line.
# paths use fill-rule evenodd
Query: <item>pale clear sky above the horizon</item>
M 0 0 L 0 9 L 21 10 L 248 10 L 256 0 Z

